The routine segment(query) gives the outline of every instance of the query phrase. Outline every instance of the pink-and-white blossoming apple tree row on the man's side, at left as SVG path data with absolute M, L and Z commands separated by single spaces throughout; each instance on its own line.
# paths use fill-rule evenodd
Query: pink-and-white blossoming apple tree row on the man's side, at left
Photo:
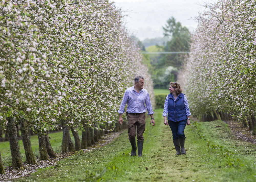
M 110 131 L 134 76 L 144 76 L 153 94 L 114 3 L 3 0 L 0 42 L 0 126 L 8 131 L 12 157 L 15 124 L 27 123 L 39 142 L 60 125 Z M 21 166 L 17 161 L 13 168 Z

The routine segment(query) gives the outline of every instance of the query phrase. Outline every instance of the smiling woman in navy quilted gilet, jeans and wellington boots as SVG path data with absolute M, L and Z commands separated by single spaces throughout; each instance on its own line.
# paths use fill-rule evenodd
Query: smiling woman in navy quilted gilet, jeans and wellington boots
M 170 94 L 164 102 L 164 124 L 169 125 L 173 133 L 173 144 L 177 153 L 175 155 L 186 154 L 184 129 L 190 125 L 190 110 L 188 99 L 182 93 L 178 82 L 170 83 Z M 167 116 L 168 114 L 168 116 Z M 166 120 L 167 117 L 167 120 Z M 181 152 L 180 152 L 181 150 Z

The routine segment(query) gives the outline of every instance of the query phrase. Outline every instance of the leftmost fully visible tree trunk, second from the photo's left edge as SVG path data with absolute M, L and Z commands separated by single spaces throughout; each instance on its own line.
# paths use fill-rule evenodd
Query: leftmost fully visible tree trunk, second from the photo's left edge
M 15 121 L 12 117 L 6 118 L 7 123 L 7 131 L 9 135 L 9 141 L 10 141 L 10 149 L 12 154 L 12 166 L 13 169 L 18 169 L 20 167 L 23 167 L 22 165 L 22 159 L 19 153 L 19 144 L 17 139 L 17 128 Z

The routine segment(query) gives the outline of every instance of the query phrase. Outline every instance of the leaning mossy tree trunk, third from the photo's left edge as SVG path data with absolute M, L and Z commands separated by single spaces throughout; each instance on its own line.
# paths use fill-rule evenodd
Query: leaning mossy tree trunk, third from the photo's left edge
M 28 124 L 26 120 L 21 119 L 20 120 L 20 133 L 22 137 L 22 142 L 25 150 L 26 155 L 26 163 L 27 164 L 35 164 L 36 160 L 34 157 L 34 153 L 31 147 L 30 138 L 28 135 Z

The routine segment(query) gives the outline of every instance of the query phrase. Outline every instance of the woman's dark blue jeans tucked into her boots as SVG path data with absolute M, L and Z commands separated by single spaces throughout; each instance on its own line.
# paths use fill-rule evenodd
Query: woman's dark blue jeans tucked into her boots
M 173 139 L 178 139 L 179 137 L 185 137 L 184 130 L 187 124 L 187 120 L 179 121 L 179 122 L 174 122 L 168 120 L 168 124 L 172 130 L 173 133 Z

